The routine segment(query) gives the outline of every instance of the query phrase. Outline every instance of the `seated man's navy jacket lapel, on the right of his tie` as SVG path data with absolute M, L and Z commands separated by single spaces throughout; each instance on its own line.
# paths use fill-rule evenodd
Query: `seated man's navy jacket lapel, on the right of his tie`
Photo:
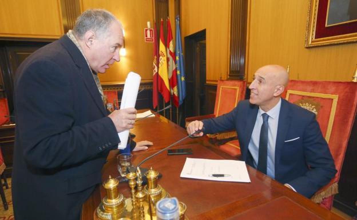
M 279 113 L 278 131 L 276 135 L 275 143 L 275 179 L 279 179 L 279 162 L 281 156 L 281 150 L 284 146 L 284 140 L 286 139 L 287 131 L 290 127 L 291 116 L 289 115 L 289 103 L 285 99 L 281 99 L 281 107 Z

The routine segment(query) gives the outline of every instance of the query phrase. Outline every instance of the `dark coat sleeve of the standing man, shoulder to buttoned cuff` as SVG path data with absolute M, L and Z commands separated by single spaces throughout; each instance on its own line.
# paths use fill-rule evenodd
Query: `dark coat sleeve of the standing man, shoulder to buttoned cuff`
M 16 126 L 27 164 L 46 169 L 80 164 L 119 142 L 109 117 L 75 125 L 81 113 L 74 110 L 72 84 L 68 73 L 48 60 L 32 63 L 17 81 Z

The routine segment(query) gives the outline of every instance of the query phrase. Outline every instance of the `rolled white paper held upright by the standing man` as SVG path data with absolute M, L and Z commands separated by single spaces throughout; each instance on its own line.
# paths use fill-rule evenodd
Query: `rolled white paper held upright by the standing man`
M 121 97 L 120 109 L 134 108 L 139 91 L 141 77 L 135 72 L 130 72 L 125 80 L 124 91 Z M 124 149 L 128 143 L 129 130 L 118 133 L 120 144 L 118 149 Z

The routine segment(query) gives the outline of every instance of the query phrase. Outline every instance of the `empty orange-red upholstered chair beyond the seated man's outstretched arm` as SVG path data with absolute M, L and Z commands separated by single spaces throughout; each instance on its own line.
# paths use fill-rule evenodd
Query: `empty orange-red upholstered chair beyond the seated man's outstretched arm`
M 241 80 L 218 80 L 214 113 L 204 116 L 188 117 L 185 119 L 186 127 L 192 121 L 214 118 L 232 111 L 232 109 L 237 106 L 237 103 L 244 99 L 246 85 L 246 81 Z M 207 136 L 213 140 L 229 140 L 229 138 L 236 138 L 237 133 L 236 131 L 227 131 L 217 134 L 207 134 Z M 222 144 L 220 145 L 220 149 L 232 156 L 241 154 L 238 140 L 233 140 L 232 143 Z

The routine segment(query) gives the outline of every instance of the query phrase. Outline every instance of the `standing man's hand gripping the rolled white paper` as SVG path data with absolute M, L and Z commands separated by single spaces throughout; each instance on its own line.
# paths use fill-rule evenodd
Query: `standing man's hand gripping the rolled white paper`
M 112 119 L 116 131 L 122 132 L 127 129 L 133 128 L 136 119 L 136 109 L 135 108 L 125 108 L 120 110 L 115 110 L 108 116 Z

